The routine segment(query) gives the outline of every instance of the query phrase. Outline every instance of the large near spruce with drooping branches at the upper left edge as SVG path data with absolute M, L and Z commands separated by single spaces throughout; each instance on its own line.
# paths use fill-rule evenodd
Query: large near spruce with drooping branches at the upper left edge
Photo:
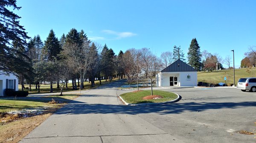
M 19 60 L 13 55 L 15 49 L 12 42 L 18 41 L 20 46 L 26 47 L 26 39 L 29 38 L 19 23 L 21 17 L 11 11 L 20 8 L 16 5 L 16 0 L 0 1 L 0 70 L 7 72 L 20 68 L 17 66 Z

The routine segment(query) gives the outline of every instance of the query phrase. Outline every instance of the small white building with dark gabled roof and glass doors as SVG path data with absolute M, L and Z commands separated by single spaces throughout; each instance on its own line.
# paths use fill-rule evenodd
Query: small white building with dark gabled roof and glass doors
M 197 70 L 178 59 L 156 75 L 158 87 L 197 86 Z

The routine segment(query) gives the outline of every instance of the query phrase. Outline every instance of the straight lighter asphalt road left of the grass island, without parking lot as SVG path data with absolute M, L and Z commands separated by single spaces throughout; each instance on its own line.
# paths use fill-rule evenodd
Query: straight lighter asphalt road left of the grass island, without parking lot
M 119 105 L 116 87 L 123 82 L 81 91 L 84 95 L 59 109 L 20 143 L 182 143 Z

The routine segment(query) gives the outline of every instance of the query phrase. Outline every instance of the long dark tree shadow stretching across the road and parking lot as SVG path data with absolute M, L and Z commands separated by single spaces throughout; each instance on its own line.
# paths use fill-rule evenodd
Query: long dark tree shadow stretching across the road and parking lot
M 86 104 L 70 103 L 59 109 L 55 114 L 141 114 L 157 112 L 158 114 L 180 114 L 182 112 L 200 112 L 209 109 L 236 109 L 244 107 L 256 107 L 256 102 L 189 102 L 189 103 L 172 103 L 151 106 L 126 106 L 110 104 Z

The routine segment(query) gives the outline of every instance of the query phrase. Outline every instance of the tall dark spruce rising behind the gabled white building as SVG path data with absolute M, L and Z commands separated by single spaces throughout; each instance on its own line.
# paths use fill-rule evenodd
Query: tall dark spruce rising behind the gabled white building
M 200 52 L 200 46 L 198 45 L 196 38 L 194 38 L 192 39 L 189 46 L 188 64 L 194 67 L 196 70 L 201 70 L 201 67 L 202 67 L 201 56 L 202 54 Z

